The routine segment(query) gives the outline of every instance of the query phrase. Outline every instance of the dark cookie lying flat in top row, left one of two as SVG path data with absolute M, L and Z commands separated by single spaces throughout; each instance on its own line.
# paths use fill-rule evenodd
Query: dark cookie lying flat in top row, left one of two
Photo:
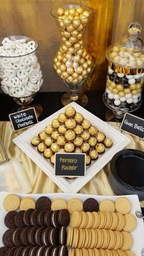
M 35 204 L 35 208 L 38 211 L 42 211 L 42 210 L 46 210 L 49 211 L 51 210 L 51 200 L 49 199 L 49 197 L 40 197 L 38 198 L 36 204 Z

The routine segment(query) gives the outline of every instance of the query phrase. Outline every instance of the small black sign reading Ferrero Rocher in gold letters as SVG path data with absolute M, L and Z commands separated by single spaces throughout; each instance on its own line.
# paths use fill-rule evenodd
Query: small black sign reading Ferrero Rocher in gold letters
M 85 154 L 56 153 L 55 175 L 62 177 L 84 177 Z

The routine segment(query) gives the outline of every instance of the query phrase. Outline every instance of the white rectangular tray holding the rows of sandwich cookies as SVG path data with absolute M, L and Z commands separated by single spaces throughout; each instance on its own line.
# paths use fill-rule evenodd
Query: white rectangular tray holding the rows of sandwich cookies
M 7 227 L 4 225 L 4 217 L 5 214 L 7 214 L 7 211 L 4 210 L 3 202 L 5 197 L 8 195 L 8 192 L 0 192 L 0 223 L 1 223 L 1 230 L 0 230 L 0 247 L 2 246 L 2 235 L 4 234 L 5 230 L 7 230 Z M 27 196 L 27 194 L 18 194 L 20 198 L 22 199 L 24 196 Z M 65 200 L 69 200 L 73 197 L 77 197 L 84 202 L 89 197 L 94 198 L 98 200 L 98 202 L 101 202 L 103 199 L 110 199 L 113 202 L 120 197 L 120 196 L 93 196 L 93 195 L 87 195 L 87 194 L 64 194 L 64 193 L 54 193 L 54 194 L 29 194 L 29 196 L 33 197 L 35 200 L 37 200 L 41 196 L 48 196 L 49 199 L 53 200 L 56 197 L 62 197 Z M 139 203 L 139 197 L 137 195 L 129 195 L 124 196 L 127 197 L 131 202 L 131 213 L 135 215 L 135 211 L 141 210 L 140 209 L 140 203 Z M 135 215 L 136 217 L 136 215 Z M 136 217 L 137 218 L 137 217 Z M 132 252 L 134 252 L 137 256 L 142 256 L 142 250 L 144 248 L 144 224 L 143 219 L 137 218 L 137 227 L 136 229 L 131 232 L 132 238 L 133 238 L 133 246 L 131 248 Z

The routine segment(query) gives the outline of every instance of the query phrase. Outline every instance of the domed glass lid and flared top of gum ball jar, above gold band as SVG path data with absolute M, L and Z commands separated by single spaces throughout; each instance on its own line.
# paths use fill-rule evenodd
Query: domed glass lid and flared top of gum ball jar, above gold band
M 106 50 L 107 59 L 124 68 L 144 67 L 144 43 L 140 37 L 142 26 L 135 21 L 128 27 L 128 34 Z

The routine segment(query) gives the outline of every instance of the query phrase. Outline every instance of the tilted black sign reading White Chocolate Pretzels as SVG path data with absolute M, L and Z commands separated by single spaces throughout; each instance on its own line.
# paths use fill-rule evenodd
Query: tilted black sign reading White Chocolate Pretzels
M 38 122 L 34 108 L 24 109 L 9 115 L 13 130 L 18 131 Z

